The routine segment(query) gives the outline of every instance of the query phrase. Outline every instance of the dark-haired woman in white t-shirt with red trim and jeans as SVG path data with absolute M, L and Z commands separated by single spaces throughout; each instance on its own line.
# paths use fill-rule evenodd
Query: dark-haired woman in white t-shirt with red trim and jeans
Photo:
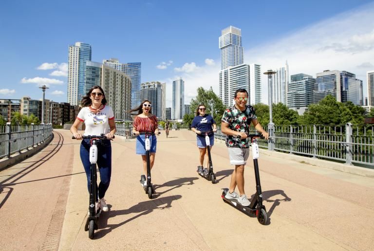
M 82 140 L 82 134 L 78 132 L 78 127 L 83 122 L 86 125 L 84 131 L 87 135 L 101 135 L 102 133 L 108 139 L 112 139 L 116 131 L 114 114 L 110 106 L 107 106 L 104 90 L 99 86 L 93 86 L 86 96 L 82 98 L 81 107 L 83 107 L 75 119 L 74 124 L 70 128 L 75 139 Z M 80 144 L 80 159 L 82 160 L 84 170 L 87 176 L 87 187 L 90 192 L 91 183 L 91 162 L 90 162 L 90 139 L 82 140 Z M 112 175 L 112 146 L 110 140 L 102 140 L 101 144 L 97 145 L 98 156 L 97 166 L 100 173 L 100 184 L 96 185 L 96 210 L 98 207 L 104 212 L 108 211 L 108 206 L 105 202 L 105 192 L 108 190 Z

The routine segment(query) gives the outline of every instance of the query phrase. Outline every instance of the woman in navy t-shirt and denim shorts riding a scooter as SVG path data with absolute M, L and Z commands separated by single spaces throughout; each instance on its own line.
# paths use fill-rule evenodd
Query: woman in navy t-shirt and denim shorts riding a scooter
M 200 165 L 197 167 L 197 172 L 202 173 L 204 171 L 204 156 L 208 152 L 206 151 L 206 142 L 205 142 L 205 134 L 202 134 L 202 132 L 206 131 L 212 131 L 213 132 L 217 131 L 217 125 L 216 122 L 214 121 L 213 117 L 210 116 L 209 114 L 206 114 L 206 107 L 205 105 L 199 105 L 196 109 L 196 116 L 193 118 L 192 125 L 191 125 L 191 130 L 194 131 L 197 136 L 196 136 L 196 141 L 197 141 L 197 147 L 199 148 L 200 152 Z M 211 133 L 209 135 L 210 138 L 210 150 L 212 149 L 212 146 L 214 144 L 214 134 Z M 208 166 L 208 158 L 206 157 L 206 166 Z

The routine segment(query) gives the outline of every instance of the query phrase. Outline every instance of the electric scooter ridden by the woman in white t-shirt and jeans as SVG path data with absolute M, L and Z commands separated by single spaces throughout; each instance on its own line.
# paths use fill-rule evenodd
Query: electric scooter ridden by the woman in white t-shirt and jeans
M 91 147 L 90 147 L 90 162 L 91 162 L 91 184 L 90 184 L 90 204 L 89 204 L 89 216 L 87 217 L 86 225 L 84 226 L 84 231 L 88 231 L 88 237 L 93 239 L 93 235 L 95 230 L 98 229 L 98 222 L 99 217 L 101 214 L 101 208 L 96 211 L 95 204 L 97 199 L 96 194 L 96 180 L 97 180 L 97 173 L 96 173 L 96 162 L 97 162 L 97 144 L 101 142 L 101 140 L 107 140 L 107 136 L 105 134 L 101 134 L 100 136 L 95 135 L 88 135 L 83 136 L 83 139 L 91 139 Z M 113 137 L 114 138 L 114 137 Z M 72 136 L 72 139 L 75 139 Z

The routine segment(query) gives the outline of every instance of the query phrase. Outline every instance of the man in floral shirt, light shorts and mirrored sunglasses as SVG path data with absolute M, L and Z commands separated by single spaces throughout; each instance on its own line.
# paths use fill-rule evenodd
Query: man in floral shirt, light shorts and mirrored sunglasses
M 267 140 L 267 133 L 257 121 L 255 110 L 252 106 L 247 105 L 248 92 L 245 89 L 235 91 L 235 104 L 224 111 L 222 117 L 222 132 L 226 134 L 226 146 L 230 157 L 230 164 L 235 165 L 231 175 L 230 187 L 225 195 L 228 199 L 237 199 L 243 206 L 249 206 L 250 201 L 244 193 L 244 166 L 249 156 L 249 132 L 250 123 L 259 131 Z M 237 136 L 241 138 L 237 138 Z M 239 195 L 235 192 L 238 185 Z

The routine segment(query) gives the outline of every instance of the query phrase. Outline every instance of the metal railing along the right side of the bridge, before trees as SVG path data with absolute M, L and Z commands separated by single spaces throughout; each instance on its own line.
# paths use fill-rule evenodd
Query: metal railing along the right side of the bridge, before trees
M 250 133 L 255 133 L 253 127 Z M 273 135 L 269 141 L 259 139 L 259 146 L 347 164 L 374 165 L 373 125 L 274 125 Z M 220 128 L 215 137 L 225 139 Z

